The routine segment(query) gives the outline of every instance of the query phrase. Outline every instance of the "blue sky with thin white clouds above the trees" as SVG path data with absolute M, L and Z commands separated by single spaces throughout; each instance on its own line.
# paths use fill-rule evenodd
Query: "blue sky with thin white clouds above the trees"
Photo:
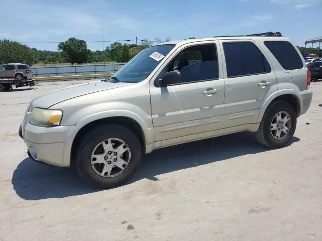
M 19 42 L 100 41 L 102 29 L 105 41 L 273 31 L 303 46 L 322 36 L 322 0 L 1 0 L 0 6 L 0 39 Z M 57 50 L 57 44 L 27 45 Z

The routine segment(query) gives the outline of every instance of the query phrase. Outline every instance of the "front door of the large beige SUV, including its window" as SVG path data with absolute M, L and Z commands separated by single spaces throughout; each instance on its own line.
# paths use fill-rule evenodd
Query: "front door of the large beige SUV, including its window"
M 176 50 L 155 80 L 180 71 L 182 82 L 158 87 L 151 81 L 151 112 L 155 141 L 219 129 L 224 114 L 225 85 L 218 41 L 192 43 Z

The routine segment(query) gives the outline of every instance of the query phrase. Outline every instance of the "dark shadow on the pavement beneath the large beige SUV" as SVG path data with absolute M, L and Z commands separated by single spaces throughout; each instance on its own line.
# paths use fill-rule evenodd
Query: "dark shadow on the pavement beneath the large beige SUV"
M 293 137 L 288 145 L 298 141 L 298 138 Z M 144 178 L 158 180 L 156 176 L 160 174 L 269 150 L 258 144 L 251 133 L 237 133 L 163 148 L 145 155 L 139 169 L 125 185 Z M 82 181 L 74 168 L 52 167 L 30 158 L 18 165 L 12 184 L 16 193 L 26 200 L 63 198 L 100 191 Z

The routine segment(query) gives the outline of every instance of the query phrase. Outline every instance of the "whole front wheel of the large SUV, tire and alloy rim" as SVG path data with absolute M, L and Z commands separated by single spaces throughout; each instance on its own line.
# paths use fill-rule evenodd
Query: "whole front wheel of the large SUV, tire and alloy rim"
M 76 154 L 76 170 L 94 187 L 119 186 L 140 164 L 141 150 L 140 142 L 130 130 L 119 125 L 105 125 L 83 137 Z

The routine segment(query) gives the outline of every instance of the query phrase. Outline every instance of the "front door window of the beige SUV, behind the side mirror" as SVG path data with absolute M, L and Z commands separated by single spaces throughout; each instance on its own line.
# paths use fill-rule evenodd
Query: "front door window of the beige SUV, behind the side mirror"
M 215 44 L 192 46 L 182 50 L 165 68 L 160 78 L 170 71 L 180 71 L 181 82 L 214 80 L 218 78 Z

